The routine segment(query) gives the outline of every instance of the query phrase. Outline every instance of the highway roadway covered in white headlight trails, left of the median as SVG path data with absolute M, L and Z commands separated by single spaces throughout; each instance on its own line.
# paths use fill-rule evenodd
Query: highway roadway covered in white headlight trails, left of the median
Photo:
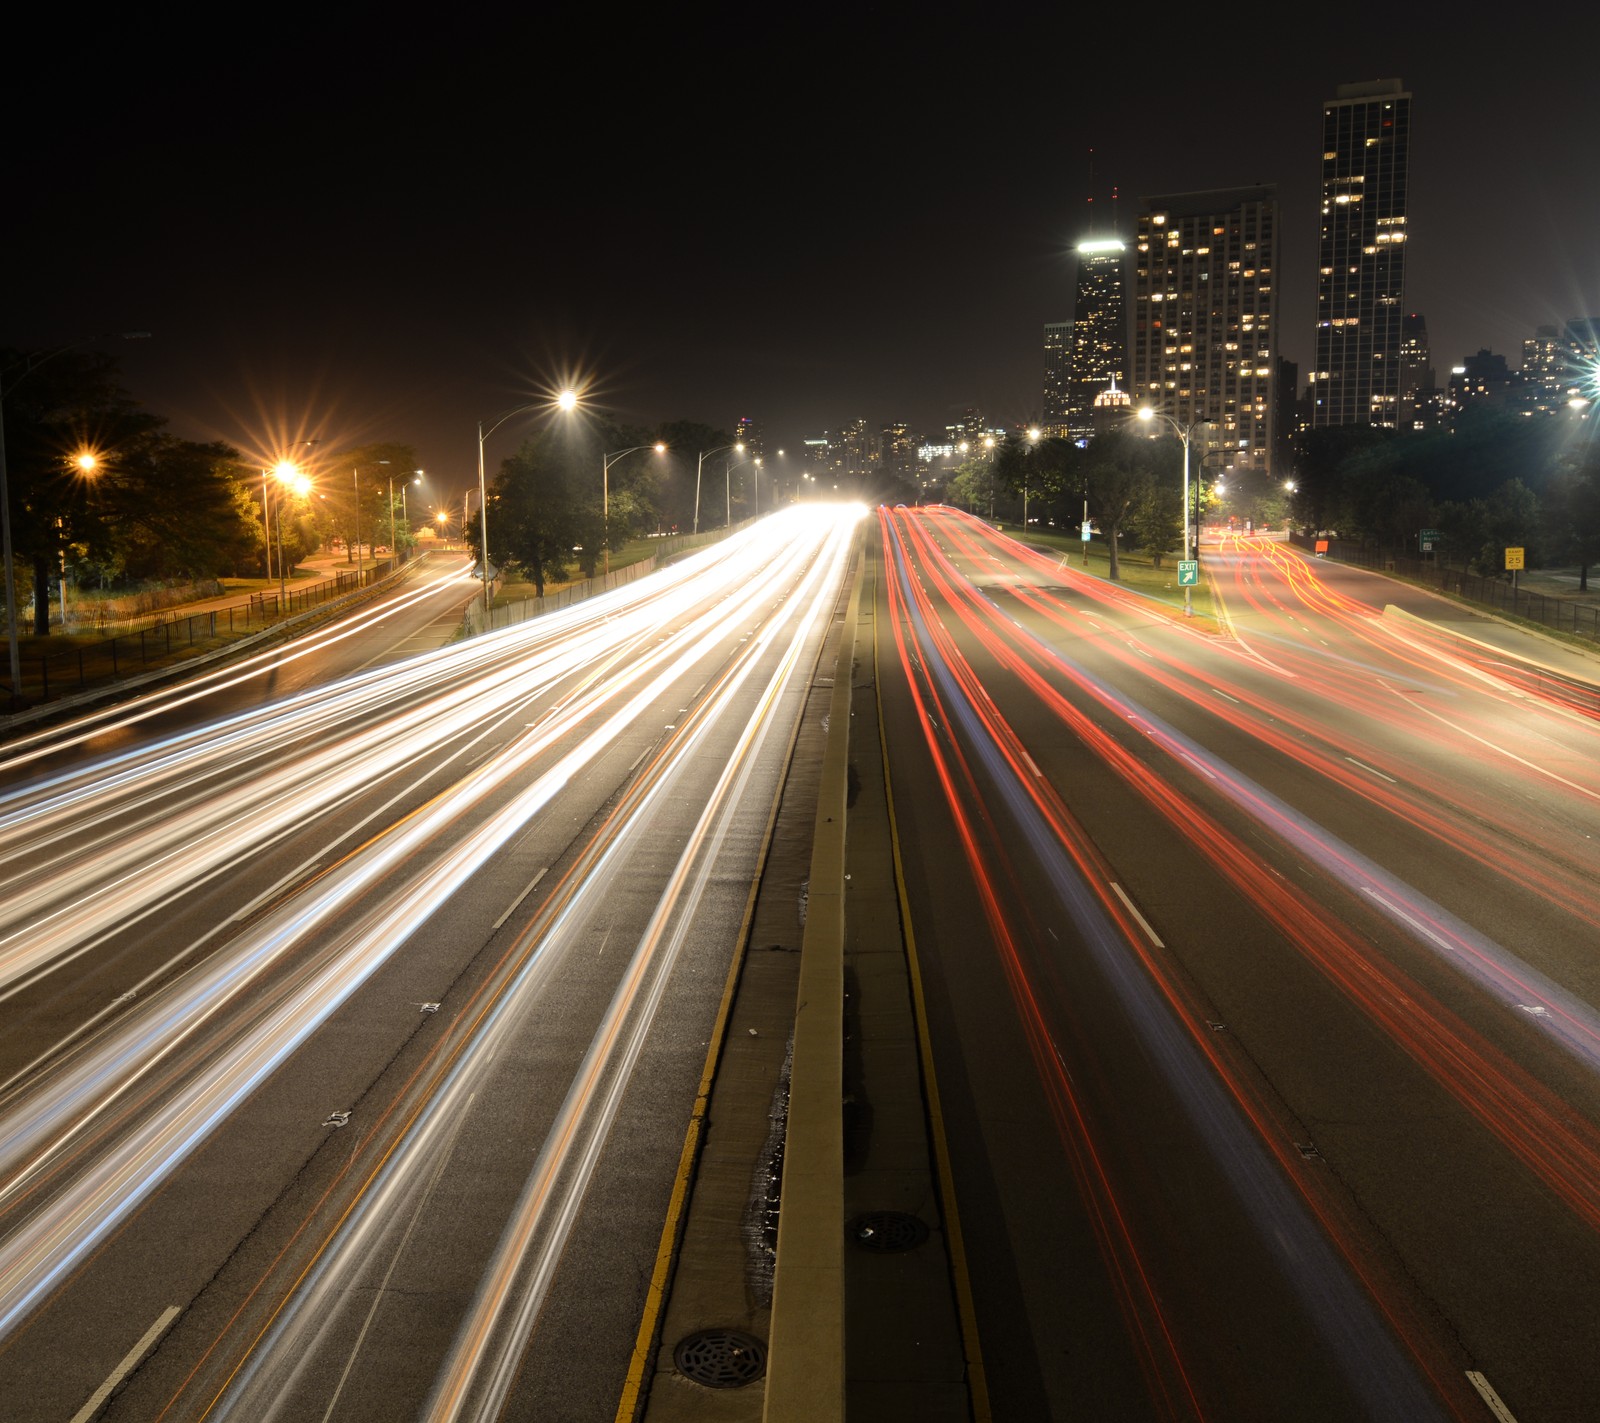
M 610 1417 L 858 520 L 5 749 L 6 1418 Z

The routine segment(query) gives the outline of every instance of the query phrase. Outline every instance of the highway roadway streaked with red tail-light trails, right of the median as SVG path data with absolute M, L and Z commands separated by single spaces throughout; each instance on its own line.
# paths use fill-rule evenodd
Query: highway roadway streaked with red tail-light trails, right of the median
M 880 511 L 994 1417 L 1600 1415 L 1600 724 L 1266 539 L 1187 621 Z

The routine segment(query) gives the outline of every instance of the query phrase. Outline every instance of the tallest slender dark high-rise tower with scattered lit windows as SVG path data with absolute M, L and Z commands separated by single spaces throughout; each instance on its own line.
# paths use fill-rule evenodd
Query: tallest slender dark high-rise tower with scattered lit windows
M 1322 109 L 1312 426 L 1400 424 L 1411 94 L 1339 85 Z

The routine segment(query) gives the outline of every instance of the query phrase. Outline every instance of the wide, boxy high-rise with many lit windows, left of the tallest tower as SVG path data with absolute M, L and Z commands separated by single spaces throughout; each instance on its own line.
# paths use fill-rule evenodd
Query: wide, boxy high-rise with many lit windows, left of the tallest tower
M 1240 472 L 1274 467 L 1277 189 L 1149 197 L 1133 258 L 1134 405 L 1226 450 Z

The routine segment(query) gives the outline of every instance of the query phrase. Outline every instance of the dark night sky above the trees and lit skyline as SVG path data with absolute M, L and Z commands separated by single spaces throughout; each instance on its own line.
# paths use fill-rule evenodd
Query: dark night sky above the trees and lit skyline
M 1112 184 L 1125 230 L 1146 194 L 1278 184 L 1304 378 L 1320 106 L 1381 77 L 1414 94 L 1440 375 L 1600 315 L 1587 6 L 1352 6 L 1325 42 L 1288 5 L 58 11 L 5 48 L 0 344 L 149 330 L 109 347 L 133 394 L 251 459 L 408 440 L 466 487 L 475 423 L 568 379 L 792 453 L 1037 418 Z

